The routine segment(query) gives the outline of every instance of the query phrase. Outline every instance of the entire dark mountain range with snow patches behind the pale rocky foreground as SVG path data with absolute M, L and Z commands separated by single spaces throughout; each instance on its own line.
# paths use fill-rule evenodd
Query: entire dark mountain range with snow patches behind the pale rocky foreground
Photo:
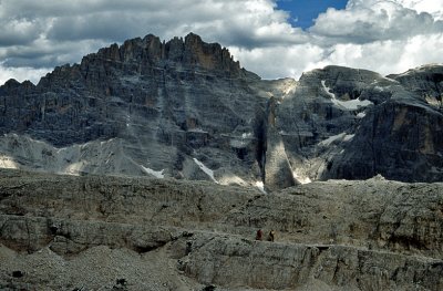
M 0 166 L 264 183 L 443 179 L 443 69 L 266 81 L 196 34 L 113 44 L 0 87 Z

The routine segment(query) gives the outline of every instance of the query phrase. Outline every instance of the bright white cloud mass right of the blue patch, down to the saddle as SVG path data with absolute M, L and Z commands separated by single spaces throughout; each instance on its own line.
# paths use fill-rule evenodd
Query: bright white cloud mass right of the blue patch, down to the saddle
M 235 52 L 269 79 L 297 79 L 330 64 L 400 73 L 442 63 L 442 10 L 443 0 L 350 0 L 346 9 L 331 8 L 316 19 L 308 43 Z

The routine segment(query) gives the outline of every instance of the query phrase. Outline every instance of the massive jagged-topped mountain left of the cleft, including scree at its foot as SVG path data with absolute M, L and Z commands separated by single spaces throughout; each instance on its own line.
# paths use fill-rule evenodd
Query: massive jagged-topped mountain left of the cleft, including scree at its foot
M 128 40 L 56 67 L 37 86 L 4 84 L 0 133 L 17 143 L 2 143 L 2 153 L 28 169 L 135 176 L 152 169 L 210 180 L 197 159 L 223 184 L 254 184 L 267 103 L 259 82 L 227 49 L 193 33 Z M 91 156 L 92 145 L 104 155 Z

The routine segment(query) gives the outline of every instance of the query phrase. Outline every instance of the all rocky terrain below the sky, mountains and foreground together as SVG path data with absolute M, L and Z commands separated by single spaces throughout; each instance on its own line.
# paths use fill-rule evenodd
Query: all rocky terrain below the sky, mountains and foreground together
M 261 80 L 194 33 L 10 80 L 0 290 L 443 290 L 442 92 Z

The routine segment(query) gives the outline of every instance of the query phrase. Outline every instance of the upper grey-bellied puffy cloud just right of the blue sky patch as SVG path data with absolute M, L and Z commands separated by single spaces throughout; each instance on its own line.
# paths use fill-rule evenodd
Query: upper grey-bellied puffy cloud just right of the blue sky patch
M 329 43 L 369 43 L 443 31 L 443 21 L 392 1 L 351 0 L 344 10 L 320 14 L 310 31 Z

